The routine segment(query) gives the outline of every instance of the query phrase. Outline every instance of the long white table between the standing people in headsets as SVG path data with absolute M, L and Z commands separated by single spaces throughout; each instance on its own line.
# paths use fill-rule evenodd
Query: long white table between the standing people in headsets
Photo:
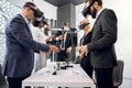
M 56 65 L 42 68 L 22 81 L 22 88 L 34 87 L 92 87 L 94 81 L 81 69 L 80 65 L 74 64 L 73 68 L 57 70 L 57 75 L 52 75 Z

